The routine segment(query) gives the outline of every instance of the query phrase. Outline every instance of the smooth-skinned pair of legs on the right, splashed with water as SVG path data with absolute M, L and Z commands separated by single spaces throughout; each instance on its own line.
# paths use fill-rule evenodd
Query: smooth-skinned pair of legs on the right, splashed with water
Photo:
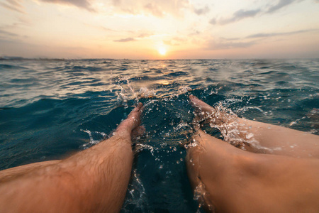
M 318 136 L 190 100 L 196 133 L 186 163 L 194 193 L 208 211 L 319 212 Z M 203 120 L 223 131 L 228 143 L 202 131 Z

